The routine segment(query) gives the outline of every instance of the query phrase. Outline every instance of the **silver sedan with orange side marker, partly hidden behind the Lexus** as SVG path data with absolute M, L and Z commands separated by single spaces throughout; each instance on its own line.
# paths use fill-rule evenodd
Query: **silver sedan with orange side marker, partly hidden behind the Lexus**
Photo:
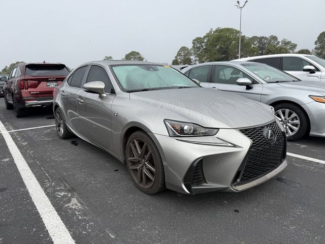
M 191 66 L 182 72 L 202 86 L 271 105 L 288 140 L 325 137 L 325 83 L 301 81 L 269 65 L 232 61 Z

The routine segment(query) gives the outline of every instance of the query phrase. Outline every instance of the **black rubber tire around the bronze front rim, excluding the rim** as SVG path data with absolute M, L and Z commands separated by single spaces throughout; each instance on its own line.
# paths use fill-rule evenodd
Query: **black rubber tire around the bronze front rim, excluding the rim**
M 129 169 L 129 165 L 127 162 L 128 146 L 129 146 L 129 143 L 135 138 L 139 138 L 139 139 L 143 140 L 145 143 L 147 143 L 147 145 L 149 146 L 149 148 L 152 152 L 152 155 L 153 155 L 153 158 L 155 161 L 155 170 L 156 170 L 155 180 L 153 182 L 153 185 L 147 189 L 142 188 L 141 186 L 138 185 L 136 180 L 131 175 L 131 170 Z M 147 194 L 155 194 L 155 193 L 165 190 L 165 188 L 166 188 L 165 187 L 165 171 L 164 171 L 163 161 L 161 160 L 157 146 L 155 145 L 155 143 L 153 142 L 153 140 L 150 138 L 150 136 L 148 134 L 146 134 L 145 132 L 142 132 L 142 131 L 134 132 L 127 140 L 124 156 L 125 156 L 125 163 L 126 163 L 128 171 L 129 171 L 129 174 L 138 189 L 140 189 L 142 192 L 147 193 Z

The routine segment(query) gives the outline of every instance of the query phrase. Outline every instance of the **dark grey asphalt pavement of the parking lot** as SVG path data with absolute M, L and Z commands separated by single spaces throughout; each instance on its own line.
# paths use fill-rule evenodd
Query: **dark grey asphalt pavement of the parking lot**
M 1 98 L 0 121 L 75 243 L 325 243 L 325 138 L 289 142 L 291 156 L 317 160 L 288 156 L 238 194 L 146 195 L 105 151 L 59 139 L 51 109 L 18 119 Z M 52 243 L 2 134 L 0 147 L 0 243 Z

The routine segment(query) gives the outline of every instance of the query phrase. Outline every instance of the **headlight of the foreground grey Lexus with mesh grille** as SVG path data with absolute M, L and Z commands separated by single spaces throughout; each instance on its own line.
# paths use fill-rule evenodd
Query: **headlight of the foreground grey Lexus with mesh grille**
M 203 128 L 201 126 L 174 120 L 164 120 L 169 136 L 214 136 L 219 129 Z

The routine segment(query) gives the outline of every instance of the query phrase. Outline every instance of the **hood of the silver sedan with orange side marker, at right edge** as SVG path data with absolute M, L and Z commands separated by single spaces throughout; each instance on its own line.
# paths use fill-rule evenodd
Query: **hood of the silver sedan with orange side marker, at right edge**
M 295 81 L 295 82 L 284 82 L 277 83 L 277 85 L 282 87 L 287 87 L 297 90 L 305 90 L 306 92 L 316 92 L 325 96 L 325 82 L 320 81 Z M 312 94 L 310 94 L 312 95 Z

